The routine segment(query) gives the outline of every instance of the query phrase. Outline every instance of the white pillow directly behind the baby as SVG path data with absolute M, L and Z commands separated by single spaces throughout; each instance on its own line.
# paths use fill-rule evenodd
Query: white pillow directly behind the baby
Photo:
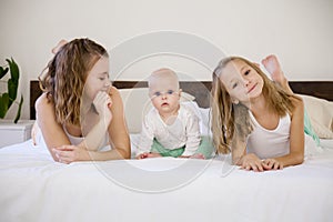
M 122 98 L 125 119 L 130 133 L 140 133 L 142 120 L 152 108 L 148 88 L 119 89 Z M 181 93 L 181 102 L 195 98 L 186 92 Z

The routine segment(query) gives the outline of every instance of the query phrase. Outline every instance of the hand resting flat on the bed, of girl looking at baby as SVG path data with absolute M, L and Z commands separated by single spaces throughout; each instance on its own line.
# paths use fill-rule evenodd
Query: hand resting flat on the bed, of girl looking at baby
M 71 163 L 75 161 L 90 161 L 89 151 L 77 145 L 61 145 L 52 149 L 57 161 L 60 163 Z

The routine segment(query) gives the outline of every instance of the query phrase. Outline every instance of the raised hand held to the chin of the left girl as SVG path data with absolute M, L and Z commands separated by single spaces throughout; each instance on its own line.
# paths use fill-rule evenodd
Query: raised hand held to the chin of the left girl
M 100 115 L 100 120 L 105 121 L 107 125 L 109 125 L 112 120 L 112 112 L 110 110 L 112 100 L 110 95 L 104 91 L 99 91 L 93 100 L 93 105 Z

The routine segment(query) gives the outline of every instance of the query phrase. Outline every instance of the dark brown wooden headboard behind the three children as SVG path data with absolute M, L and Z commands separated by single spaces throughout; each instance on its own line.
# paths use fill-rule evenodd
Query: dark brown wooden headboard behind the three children
M 192 95 L 199 107 L 208 108 L 210 105 L 211 81 L 180 82 L 180 88 Z M 147 88 L 147 82 L 138 81 L 115 81 L 113 85 L 118 89 Z M 321 99 L 333 101 L 333 81 L 291 81 L 290 87 L 295 93 L 313 95 Z M 30 119 L 36 119 L 34 102 L 41 94 L 37 80 L 30 81 Z

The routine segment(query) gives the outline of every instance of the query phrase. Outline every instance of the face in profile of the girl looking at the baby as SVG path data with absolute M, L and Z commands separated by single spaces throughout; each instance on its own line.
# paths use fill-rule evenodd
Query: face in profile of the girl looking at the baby
M 88 73 L 83 93 L 88 99 L 93 101 L 99 91 L 108 92 L 110 87 L 109 58 L 102 57 Z

